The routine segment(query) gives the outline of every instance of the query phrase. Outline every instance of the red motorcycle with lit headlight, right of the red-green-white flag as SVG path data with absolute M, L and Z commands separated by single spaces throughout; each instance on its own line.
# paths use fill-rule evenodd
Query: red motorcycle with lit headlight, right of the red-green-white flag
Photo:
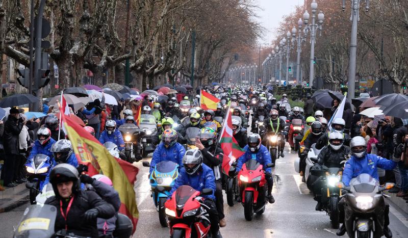
M 272 166 L 269 163 L 267 168 Z M 256 160 L 249 160 L 238 173 L 238 186 L 247 221 L 252 220 L 254 213 L 261 215 L 265 211 L 268 184 L 264 169 Z

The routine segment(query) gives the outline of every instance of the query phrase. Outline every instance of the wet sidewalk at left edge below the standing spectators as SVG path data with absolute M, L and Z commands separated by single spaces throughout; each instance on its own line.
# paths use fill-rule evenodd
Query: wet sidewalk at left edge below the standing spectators
M 17 187 L 5 187 L 5 191 L 0 191 L 0 213 L 7 212 L 18 206 L 21 202 L 27 202 L 29 190 L 25 188 L 25 182 Z

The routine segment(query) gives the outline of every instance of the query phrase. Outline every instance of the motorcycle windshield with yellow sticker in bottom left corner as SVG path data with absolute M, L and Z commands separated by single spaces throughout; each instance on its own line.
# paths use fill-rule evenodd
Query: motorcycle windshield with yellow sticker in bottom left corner
M 52 237 L 57 208 L 52 205 L 31 205 L 25 208 L 14 237 Z

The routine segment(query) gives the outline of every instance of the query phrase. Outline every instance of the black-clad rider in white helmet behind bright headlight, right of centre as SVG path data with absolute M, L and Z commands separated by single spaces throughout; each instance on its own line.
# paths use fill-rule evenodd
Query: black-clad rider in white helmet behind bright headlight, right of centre
M 320 123 L 320 122 L 314 122 Z M 340 164 L 342 161 L 347 160 L 350 157 L 350 148 L 343 145 L 343 135 L 335 132 L 329 135 L 328 146 L 323 147 L 317 156 L 317 163 L 314 166 L 324 165 L 327 168 L 342 168 L 343 165 Z M 315 201 L 317 201 L 316 210 L 322 210 L 321 202 L 321 189 L 324 183 L 321 179 L 316 180 L 313 183 L 313 190 L 315 193 Z

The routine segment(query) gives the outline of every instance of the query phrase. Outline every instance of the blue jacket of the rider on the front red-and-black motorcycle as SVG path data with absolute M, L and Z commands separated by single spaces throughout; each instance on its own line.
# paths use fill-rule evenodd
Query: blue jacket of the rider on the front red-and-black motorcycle
M 212 189 L 212 195 L 202 196 L 205 198 L 211 198 L 215 200 L 215 177 L 213 170 L 205 164 L 202 164 L 202 168 L 198 169 L 197 172 L 190 175 L 186 172 L 184 167 L 180 170 L 179 177 L 176 178 L 174 182 L 174 187 L 171 189 L 170 194 L 173 194 L 182 185 L 188 185 L 191 188 L 202 191 L 202 189 Z

